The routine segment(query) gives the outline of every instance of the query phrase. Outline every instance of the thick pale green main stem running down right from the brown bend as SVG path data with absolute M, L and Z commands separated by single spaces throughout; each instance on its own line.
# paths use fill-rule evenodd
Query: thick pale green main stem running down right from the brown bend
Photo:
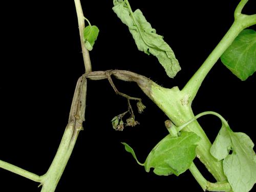
M 191 105 L 188 103 L 188 97 L 183 95 L 178 87 L 166 89 L 158 86 L 154 82 L 147 83 L 140 80 L 138 84 L 144 93 L 159 106 L 176 126 L 181 126 L 195 117 Z M 183 130 L 194 132 L 201 138 L 196 148 L 197 157 L 217 181 L 225 181 L 226 176 L 223 172 L 222 162 L 210 154 L 211 142 L 197 120 L 188 124 Z

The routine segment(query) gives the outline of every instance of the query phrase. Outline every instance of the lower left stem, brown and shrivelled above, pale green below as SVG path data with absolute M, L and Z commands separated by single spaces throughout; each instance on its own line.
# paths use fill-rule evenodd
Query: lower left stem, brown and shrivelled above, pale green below
M 83 129 L 84 113 L 86 108 L 87 80 L 81 76 L 77 81 L 73 97 L 69 122 L 61 139 L 58 151 L 48 172 L 41 176 L 41 192 L 54 192 L 59 179 L 69 161 L 79 132 Z

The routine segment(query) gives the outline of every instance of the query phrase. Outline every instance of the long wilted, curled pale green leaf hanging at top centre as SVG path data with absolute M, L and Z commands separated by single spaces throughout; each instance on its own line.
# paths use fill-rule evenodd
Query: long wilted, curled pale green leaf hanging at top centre
M 130 5 L 122 0 L 114 0 L 113 10 L 122 23 L 129 28 L 138 49 L 148 55 L 156 56 L 167 75 L 175 77 L 181 68 L 173 50 L 163 40 L 163 36 L 158 35 L 151 27 L 142 12 L 139 9 L 132 12 Z

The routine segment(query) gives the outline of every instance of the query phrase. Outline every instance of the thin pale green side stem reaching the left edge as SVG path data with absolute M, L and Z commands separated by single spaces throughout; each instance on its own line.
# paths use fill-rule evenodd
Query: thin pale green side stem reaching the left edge
M 31 172 L 28 172 L 27 170 L 19 168 L 19 167 L 15 166 L 15 165 L 12 165 L 12 164 L 7 163 L 5 161 L 0 160 L 0 167 L 4 168 L 6 170 L 9 170 L 12 173 L 15 173 L 15 174 L 18 174 L 20 176 L 26 177 L 26 178 L 28 178 L 28 179 L 30 179 L 32 181 L 41 182 L 40 176 L 38 176 L 36 174 L 33 174 Z

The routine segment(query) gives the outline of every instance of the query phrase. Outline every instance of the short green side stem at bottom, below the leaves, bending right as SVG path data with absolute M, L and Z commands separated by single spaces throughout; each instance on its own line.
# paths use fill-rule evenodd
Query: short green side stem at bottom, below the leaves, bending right
M 194 162 L 191 163 L 189 167 L 189 171 L 191 174 L 194 176 L 194 178 L 197 180 L 199 185 L 202 187 L 202 189 L 208 190 L 208 191 L 230 191 L 231 186 L 227 181 L 222 181 L 222 182 L 216 182 L 216 183 L 211 183 L 207 181 L 203 175 L 200 173 Z

